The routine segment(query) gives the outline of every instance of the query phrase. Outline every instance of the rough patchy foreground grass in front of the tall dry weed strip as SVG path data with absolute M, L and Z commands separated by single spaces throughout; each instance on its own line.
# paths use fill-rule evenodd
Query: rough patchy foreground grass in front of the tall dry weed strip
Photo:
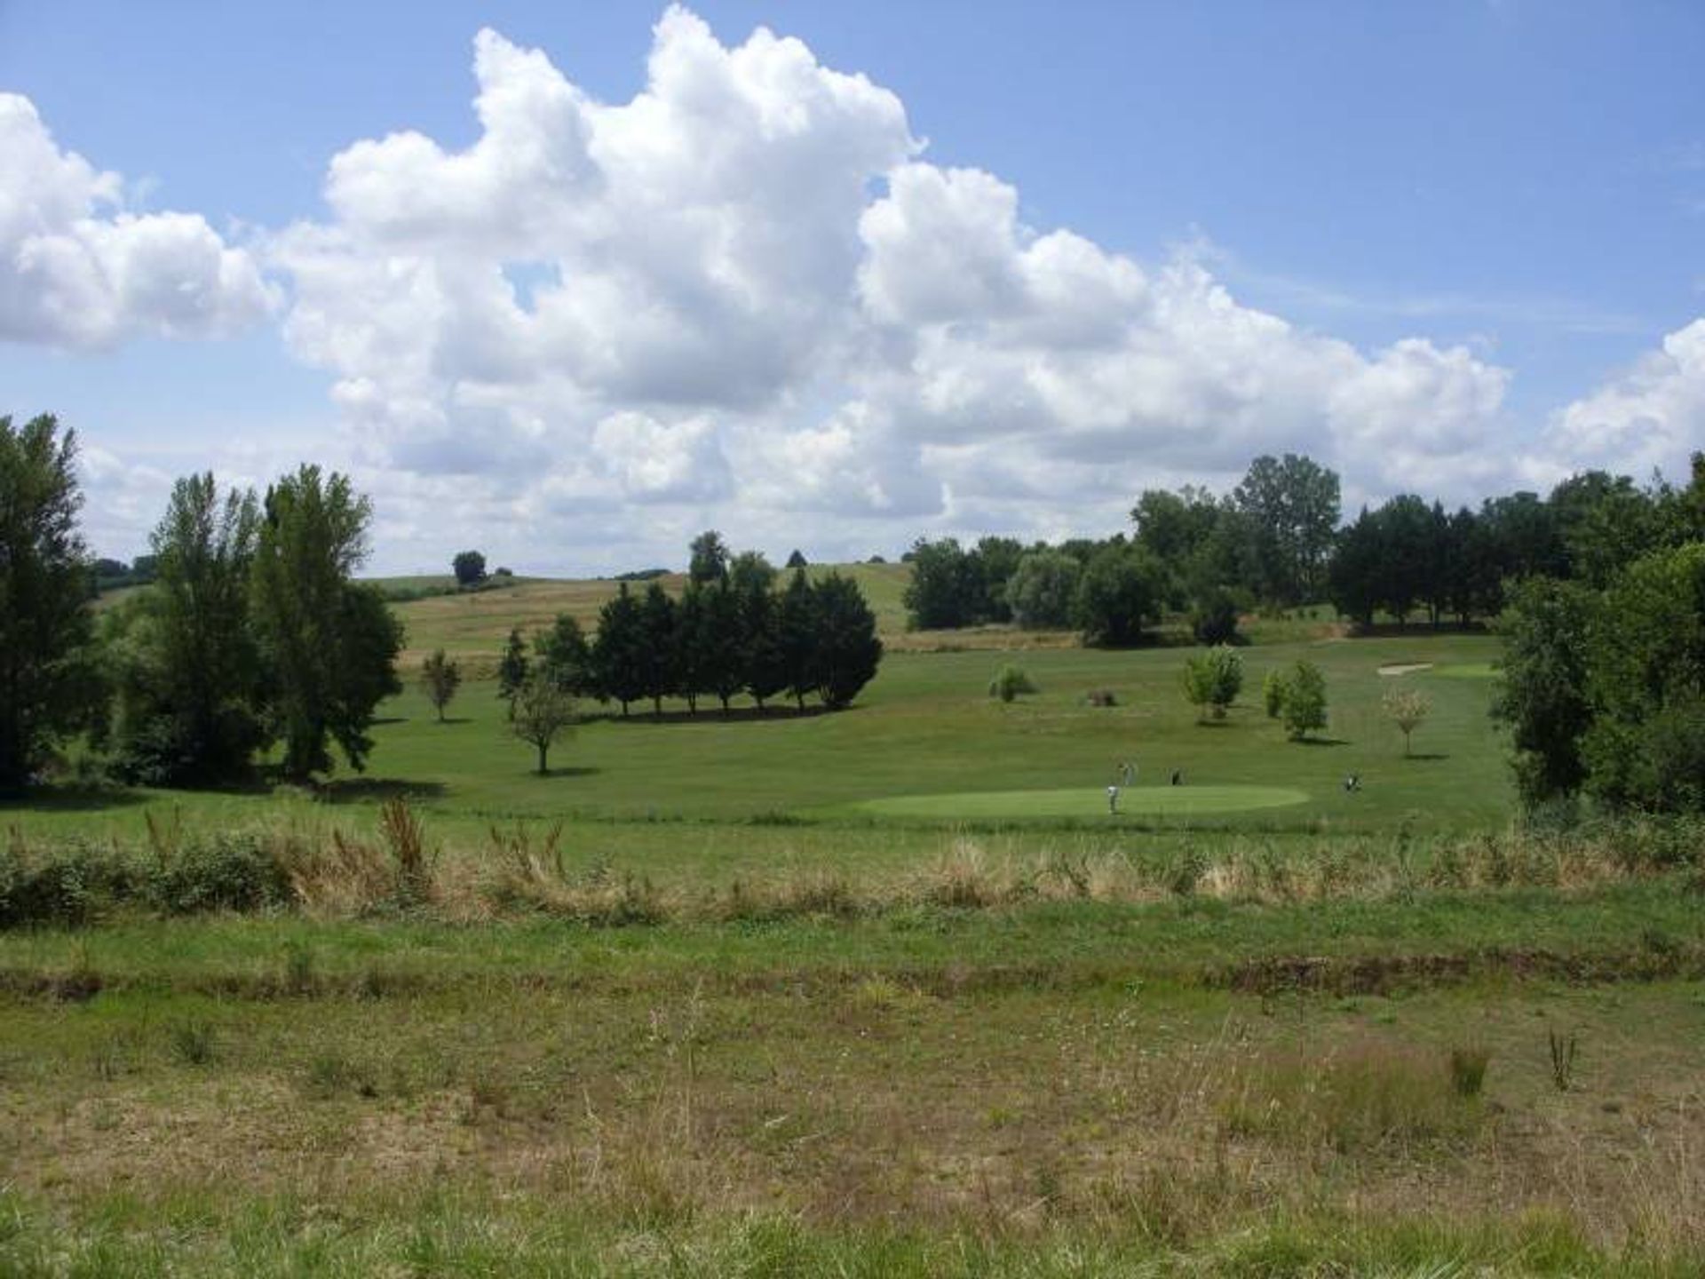
M 1667 883 L 12 933 L 0 1265 L 1690 1274 L 1702 953 Z

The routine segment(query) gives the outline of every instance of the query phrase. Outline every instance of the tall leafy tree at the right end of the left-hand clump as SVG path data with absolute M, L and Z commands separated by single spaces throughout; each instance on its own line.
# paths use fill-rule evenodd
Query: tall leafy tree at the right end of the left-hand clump
M 285 776 L 332 766 L 327 738 L 365 767 L 379 703 L 401 692 L 402 628 L 384 597 L 351 582 L 367 558 L 372 503 L 346 476 L 303 466 L 266 493 L 251 576 L 252 617 L 285 740 Z

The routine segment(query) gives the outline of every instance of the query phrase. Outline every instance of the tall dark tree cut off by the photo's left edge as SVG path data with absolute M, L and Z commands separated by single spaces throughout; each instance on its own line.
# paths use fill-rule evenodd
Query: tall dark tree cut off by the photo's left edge
M 75 462 L 55 418 L 0 418 L 0 788 L 29 783 L 102 706 Z

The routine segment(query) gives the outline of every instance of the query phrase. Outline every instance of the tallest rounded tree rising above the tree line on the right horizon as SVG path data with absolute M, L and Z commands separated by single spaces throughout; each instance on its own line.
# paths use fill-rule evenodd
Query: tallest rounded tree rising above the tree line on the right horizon
M 1262 593 L 1303 604 L 1325 590 L 1338 527 L 1338 476 L 1298 454 L 1257 457 L 1233 493 L 1255 534 Z

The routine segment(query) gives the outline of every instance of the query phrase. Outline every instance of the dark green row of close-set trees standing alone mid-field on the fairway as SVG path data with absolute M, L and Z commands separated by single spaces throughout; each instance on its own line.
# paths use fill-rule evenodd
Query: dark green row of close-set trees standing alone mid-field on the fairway
M 697 713 L 716 697 L 723 713 L 750 696 L 762 711 L 791 696 L 800 709 L 817 696 L 829 709 L 847 706 L 881 662 L 876 616 L 858 583 L 839 573 L 812 582 L 803 564 L 779 587 L 777 573 L 755 553 L 730 554 L 714 532 L 692 547 L 692 568 L 679 599 L 650 583 L 624 582 L 598 612 L 595 636 L 563 614 L 537 634 L 529 653 L 520 629 L 510 633 L 498 672 L 500 696 L 513 699 L 539 674 L 576 697 L 621 704 L 682 697 Z

